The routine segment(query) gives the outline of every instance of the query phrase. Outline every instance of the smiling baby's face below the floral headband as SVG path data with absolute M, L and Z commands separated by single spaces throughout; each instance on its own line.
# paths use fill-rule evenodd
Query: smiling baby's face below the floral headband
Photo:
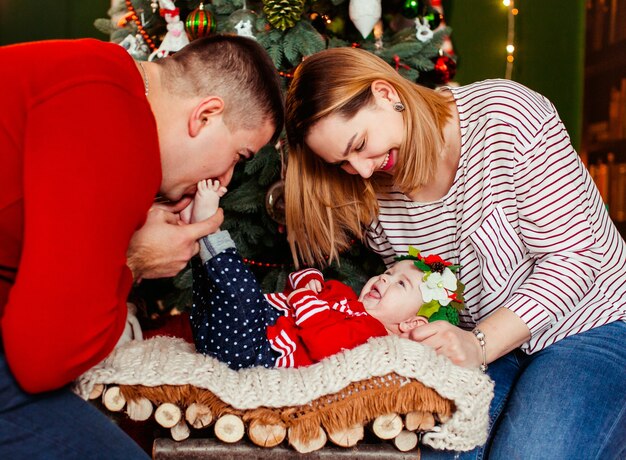
M 396 332 L 398 324 L 414 318 L 424 303 L 420 291 L 423 276 L 412 260 L 401 260 L 370 278 L 359 300 L 370 315 Z

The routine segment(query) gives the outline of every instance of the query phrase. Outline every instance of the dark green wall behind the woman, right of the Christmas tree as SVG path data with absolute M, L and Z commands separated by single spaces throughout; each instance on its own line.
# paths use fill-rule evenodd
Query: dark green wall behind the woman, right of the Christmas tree
M 550 99 L 580 146 L 585 40 L 584 0 L 515 2 L 515 62 L 512 79 Z M 504 78 L 507 8 L 502 0 L 444 0 L 446 22 L 458 56 L 455 78 L 467 84 Z

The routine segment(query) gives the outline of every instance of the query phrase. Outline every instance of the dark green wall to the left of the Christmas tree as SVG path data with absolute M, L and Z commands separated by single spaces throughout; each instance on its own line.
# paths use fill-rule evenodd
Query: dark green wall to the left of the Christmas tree
M 93 22 L 110 0 L 0 0 L 0 45 L 49 38 L 108 39 Z

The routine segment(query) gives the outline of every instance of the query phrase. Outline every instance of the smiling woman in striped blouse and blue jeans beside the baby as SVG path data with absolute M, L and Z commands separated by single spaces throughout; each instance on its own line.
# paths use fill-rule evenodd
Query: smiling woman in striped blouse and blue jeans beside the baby
M 301 261 L 356 236 L 388 264 L 411 244 L 461 265 L 459 327 L 407 336 L 496 382 L 464 455 L 623 458 L 626 245 L 552 103 L 506 80 L 430 90 L 338 48 L 299 66 L 286 108 Z

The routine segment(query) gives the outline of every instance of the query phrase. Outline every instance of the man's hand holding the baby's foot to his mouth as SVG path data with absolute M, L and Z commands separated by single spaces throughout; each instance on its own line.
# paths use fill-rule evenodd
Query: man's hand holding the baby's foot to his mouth
M 175 276 L 200 250 L 198 239 L 219 230 L 224 221 L 221 209 L 207 220 L 190 224 L 179 214 L 188 205 L 189 199 L 183 199 L 150 208 L 146 223 L 135 232 L 126 253 L 136 282 Z

